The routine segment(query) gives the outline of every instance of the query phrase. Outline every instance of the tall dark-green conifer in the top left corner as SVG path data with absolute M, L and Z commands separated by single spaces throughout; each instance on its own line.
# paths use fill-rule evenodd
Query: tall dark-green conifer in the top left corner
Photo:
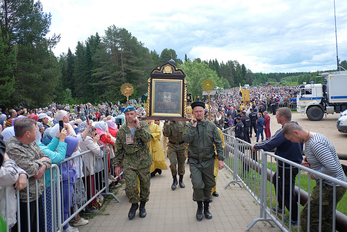
M 2 37 L 8 36 L 7 53 L 18 51 L 14 84 L 11 79 L 7 83 L 13 86 L 12 94 L 7 96 L 10 101 L 7 106 L 37 107 L 52 102 L 61 72 L 58 60 L 51 52 L 60 35 L 45 37 L 51 25 L 51 14 L 43 12 L 40 1 L 4 1 L 0 4 L 0 25 Z M 10 59 L 9 63 L 12 61 Z

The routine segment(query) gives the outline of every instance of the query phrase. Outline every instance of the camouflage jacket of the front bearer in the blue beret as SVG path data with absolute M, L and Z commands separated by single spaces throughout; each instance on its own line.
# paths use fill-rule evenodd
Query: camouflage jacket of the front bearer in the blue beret
M 147 146 L 151 141 L 152 134 L 146 121 L 140 121 L 141 127 L 135 129 L 134 144 L 126 144 L 126 134 L 130 134 L 128 123 L 124 123 L 117 132 L 116 154 L 114 158 L 114 166 L 122 166 L 131 169 L 141 169 L 152 164 L 153 158 Z

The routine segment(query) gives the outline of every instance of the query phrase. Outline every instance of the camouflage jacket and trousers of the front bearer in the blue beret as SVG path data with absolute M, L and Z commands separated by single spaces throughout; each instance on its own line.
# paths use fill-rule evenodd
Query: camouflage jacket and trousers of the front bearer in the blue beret
M 153 161 L 147 143 L 151 141 L 151 131 L 146 121 L 140 121 L 141 127 L 135 129 L 134 144 L 126 144 L 126 134 L 130 134 L 128 123 L 121 126 L 115 143 L 116 156 L 114 166 L 122 163 L 126 178 L 125 193 L 131 204 L 139 201 L 148 202 L 151 186 L 150 170 Z M 137 188 L 137 176 L 140 180 L 140 196 Z

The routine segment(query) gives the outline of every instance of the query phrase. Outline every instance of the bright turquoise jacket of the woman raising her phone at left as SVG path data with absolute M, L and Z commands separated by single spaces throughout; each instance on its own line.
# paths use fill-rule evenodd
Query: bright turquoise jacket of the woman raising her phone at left
M 64 142 L 59 142 L 57 137 L 54 137 L 51 143 L 45 146 L 43 143 L 38 143 L 39 147 L 43 151 L 45 155 L 48 155 L 52 160 L 52 163 L 59 163 L 65 159 L 66 146 L 67 144 Z M 55 152 L 59 145 L 58 152 Z M 45 171 L 45 182 L 46 188 L 51 186 L 51 171 Z M 56 181 L 57 181 L 57 173 L 56 173 Z

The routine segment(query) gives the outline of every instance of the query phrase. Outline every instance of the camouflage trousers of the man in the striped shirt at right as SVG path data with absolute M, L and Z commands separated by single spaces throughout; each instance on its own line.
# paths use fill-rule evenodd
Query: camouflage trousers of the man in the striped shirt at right
M 336 187 L 336 205 L 346 193 L 345 187 Z M 333 186 L 322 184 L 322 231 L 333 230 Z M 300 231 L 307 231 L 308 203 L 304 205 L 300 213 Z M 310 229 L 319 231 L 319 184 L 313 187 L 310 196 Z

